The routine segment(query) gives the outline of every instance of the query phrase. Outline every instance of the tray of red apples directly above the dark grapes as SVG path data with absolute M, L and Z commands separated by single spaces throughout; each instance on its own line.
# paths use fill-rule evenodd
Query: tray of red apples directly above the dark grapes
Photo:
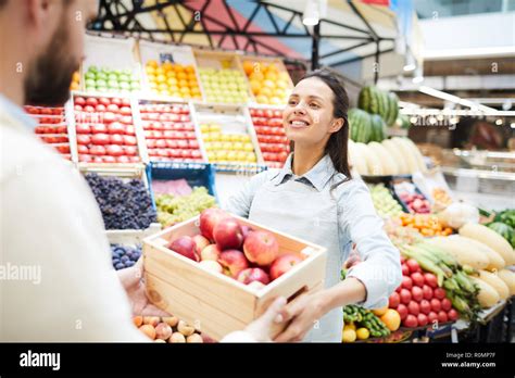
M 81 163 L 141 161 L 130 100 L 75 97 L 75 130 Z

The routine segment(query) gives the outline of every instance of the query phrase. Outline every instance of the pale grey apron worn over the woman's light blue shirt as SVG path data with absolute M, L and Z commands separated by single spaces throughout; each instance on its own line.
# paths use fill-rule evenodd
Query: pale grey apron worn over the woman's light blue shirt
M 266 181 L 252 200 L 249 219 L 327 248 L 324 286 L 329 288 L 340 281 L 343 248 L 339 241 L 338 206 L 330 191 L 317 191 L 294 179 L 279 186 Z M 342 327 L 342 310 L 337 307 L 315 323 L 303 341 L 341 342 Z

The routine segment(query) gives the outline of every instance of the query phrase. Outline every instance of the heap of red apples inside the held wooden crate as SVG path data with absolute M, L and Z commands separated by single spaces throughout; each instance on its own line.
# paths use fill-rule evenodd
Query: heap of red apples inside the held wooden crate
M 199 263 L 202 268 L 227 275 L 244 285 L 262 288 L 277 279 L 302 256 L 279 255 L 274 234 L 252 230 L 219 209 L 200 214 L 200 234 L 172 240 L 168 249 Z

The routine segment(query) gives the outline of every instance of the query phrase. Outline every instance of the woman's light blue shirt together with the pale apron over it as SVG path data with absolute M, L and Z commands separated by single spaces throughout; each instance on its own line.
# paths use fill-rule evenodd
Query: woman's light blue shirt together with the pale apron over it
M 382 230 L 367 186 L 357 178 L 346 180 L 325 155 L 310 172 L 298 177 L 292 155 L 281 169 L 255 175 L 227 203 L 227 211 L 279 231 L 327 248 L 325 287 L 340 281 L 352 243 L 362 263 L 348 272 L 366 288 L 361 305 L 382 307 L 402 279 L 399 250 Z M 335 308 L 314 326 L 305 341 L 341 341 L 343 316 Z

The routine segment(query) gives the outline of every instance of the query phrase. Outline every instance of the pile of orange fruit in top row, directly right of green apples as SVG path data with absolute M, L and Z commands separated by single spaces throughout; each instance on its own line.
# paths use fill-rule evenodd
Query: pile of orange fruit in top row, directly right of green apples
M 192 65 L 150 60 L 145 65 L 149 88 L 159 94 L 183 99 L 202 99 Z

